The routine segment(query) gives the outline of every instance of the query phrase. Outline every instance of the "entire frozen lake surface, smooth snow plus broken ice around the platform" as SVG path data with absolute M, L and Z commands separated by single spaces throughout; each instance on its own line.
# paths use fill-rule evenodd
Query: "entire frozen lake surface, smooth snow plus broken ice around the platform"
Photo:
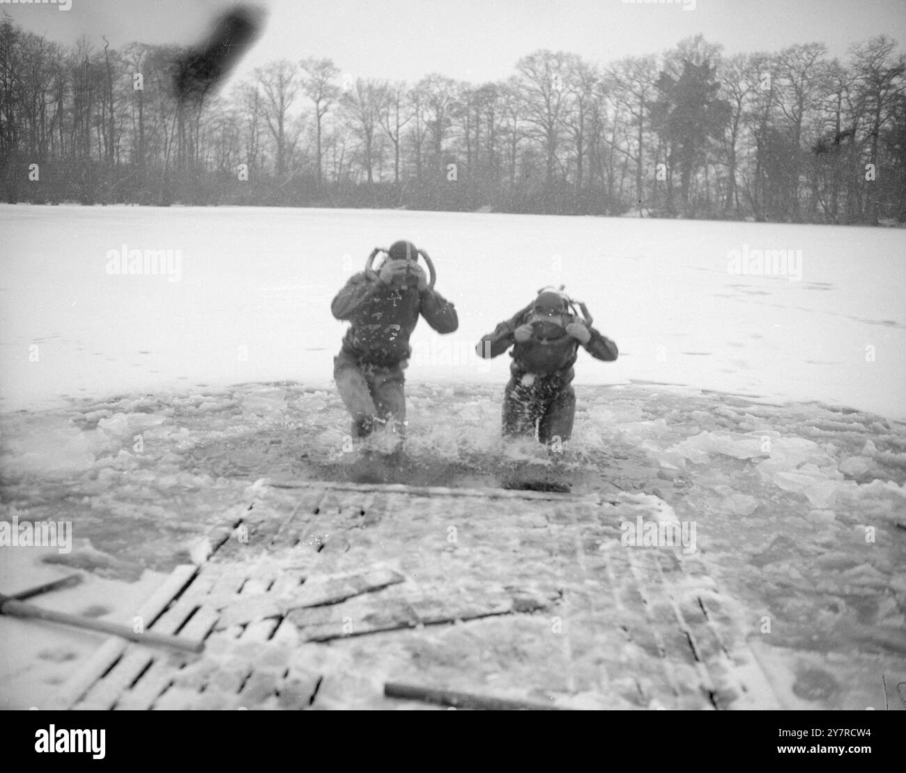
M 560 461 L 573 489 L 644 492 L 694 520 L 766 662 L 805 674 L 791 705 L 864 708 L 867 684 L 902 672 L 900 230 L 128 207 L 0 207 L 0 229 L 0 518 L 74 533 L 68 555 L 0 548 L 0 592 L 84 569 L 109 601 L 92 614 L 120 619 L 250 482 L 346 477 L 329 302 L 372 246 L 409 237 L 461 325 L 415 333 L 400 475 L 496 485 L 517 463 L 548 469 L 537 448 L 500 443 L 509 358 L 472 348 L 564 282 L 621 348 L 613 364 L 580 355 Z M 179 281 L 109 275 L 122 243 L 180 250 Z M 728 273 L 744 245 L 803 250 L 802 280 Z M 2 649 L 27 649 L 31 631 L 0 619 Z M 53 646 L 38 665 L 0 662 L 17 704 L 78 663 Z

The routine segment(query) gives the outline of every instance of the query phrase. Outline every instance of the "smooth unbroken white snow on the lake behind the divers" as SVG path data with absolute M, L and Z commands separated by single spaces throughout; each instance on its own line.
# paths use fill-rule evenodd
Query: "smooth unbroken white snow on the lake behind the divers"
M 445 337 L 419 324 L 410 382 L 502 385 L 509 358 L 480 360 L 475 343 L 539 288 L 565 284 L 621 352 L 615 363 L 580 354 L 577 384 L 659 382 L 906 418 L 901 229 L 134 206 L 0 205 L 0 410 L 252 381 L 329 386 L 345 328 L 330 302 L 372 247 L 401 238 L 434 258 L 460 320 Z M 173 251 L 169 275 L 111 273 L 109 253 L 124 250 Z M 766 250 L 795 260 L 759 272 Z

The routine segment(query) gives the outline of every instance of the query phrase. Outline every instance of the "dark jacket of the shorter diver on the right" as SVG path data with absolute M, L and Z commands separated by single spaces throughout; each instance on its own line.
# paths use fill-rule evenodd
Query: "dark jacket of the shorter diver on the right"
M 576 353 L 583 346 L 593 358 L 612 361 L 619 352 L 617 345 L 611 339 L 601 335 L 596 329 L 589 327 L 592 338 L 587 344 L 580 344 L 572 336 L 563 334 L 554 339 L 538 339 L 535 335 L 525 343 L 518 343 L 514 332 L 520 325 L 525 324 L 532 317 L 531 307 L 518 311 L 516 315 L 506 322 L 497 325 L 493 333 L 485 336 L 478 342 L 477 352 L 483 358 L 492 358 L 503 354 L 507 348 L 513 346 L 510 353 L 513 362 L 510 363 L 510 372 L 516 378 L 526 374 L 540 377 L 558 377 L 566 385 L 573 380 L 575 375 L 573 364 Z M 582 322 L 573 314 L 564 315 L 564 328 L 571 322 Z

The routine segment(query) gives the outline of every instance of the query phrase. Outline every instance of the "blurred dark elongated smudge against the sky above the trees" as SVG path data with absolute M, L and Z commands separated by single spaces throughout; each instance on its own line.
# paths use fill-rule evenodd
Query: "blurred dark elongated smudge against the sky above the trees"
M 200 99 L 222 81 L 255 43 L 264 21 L 265 12 L 250 5 L 237 5 L 220 16 L 207 39 L 176 62 L 178 99 Z

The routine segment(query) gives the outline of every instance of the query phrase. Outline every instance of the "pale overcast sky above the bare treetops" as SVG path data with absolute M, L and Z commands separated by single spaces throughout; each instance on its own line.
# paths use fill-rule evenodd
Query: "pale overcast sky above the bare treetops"
M 689 0 L 691 3 L 693 0 Z M 0 5 L 36 33 L 63 43 L 101 34 L 120 46 L 193 43 L 232 0 L 70 0 Z M 0 4 L 3 0 L 0 0 Z M 506 78 L 539 48 L 612 62 L 660 53 L 703 33 L 725 53 L 775 52 L 826 43 L 844 57 L 852 43 L 886 33 L 906 44 L 906 0 L 694 0 L 683 5 L 623 0 L 265 0 L 265 32 L 236 72 L 275 59 L 329 57 L 352 77 L 418 81 L 429 72 L 479 83 Z

